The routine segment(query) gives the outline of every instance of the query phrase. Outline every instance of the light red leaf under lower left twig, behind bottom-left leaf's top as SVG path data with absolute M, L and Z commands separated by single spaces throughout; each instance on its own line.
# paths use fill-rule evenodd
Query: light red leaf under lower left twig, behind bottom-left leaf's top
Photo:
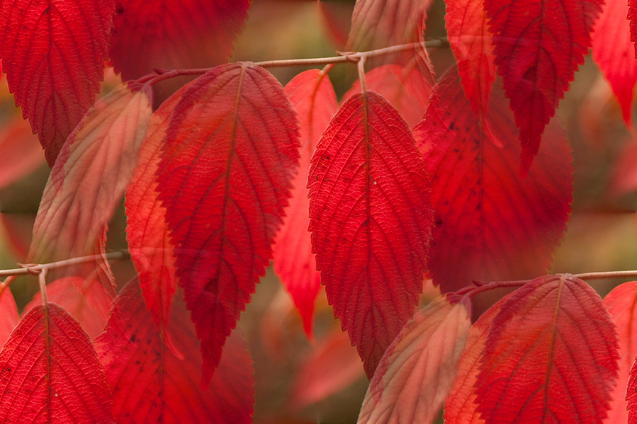
M 113 301 L 98 281 L 81 277 L 63 277 L 50 283 L 47 285 L 47 299 L 71 314 L 91 339 L 104 330 Z M 89 303 L 88 299 L 93 302 Z M 41 304 L 42 294 L 38 292 L 24 310 L 30 311 Z

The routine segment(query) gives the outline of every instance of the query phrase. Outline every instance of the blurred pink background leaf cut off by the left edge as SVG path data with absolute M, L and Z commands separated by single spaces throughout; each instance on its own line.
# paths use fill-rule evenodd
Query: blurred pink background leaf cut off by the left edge
M 0 189 L 28 176 L 44 163 L 38 137 L 31 132 L 28 121 L 11 120 L 0 130 Z

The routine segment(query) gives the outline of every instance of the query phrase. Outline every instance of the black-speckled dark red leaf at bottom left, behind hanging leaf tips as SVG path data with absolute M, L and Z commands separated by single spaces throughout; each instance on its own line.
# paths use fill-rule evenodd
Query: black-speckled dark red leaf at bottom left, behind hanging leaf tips
M 242 336 L 228 338 L 212 384 L 201 390 L 199 341 L 188 315 L 179 294 L 164 331 L 154 325 L 137 282 L 117 298 L 96 350 L 118 424 L 252 422 L 252 360 Z M 167 348 L 163 333 L 172 335 L 181 359 Z

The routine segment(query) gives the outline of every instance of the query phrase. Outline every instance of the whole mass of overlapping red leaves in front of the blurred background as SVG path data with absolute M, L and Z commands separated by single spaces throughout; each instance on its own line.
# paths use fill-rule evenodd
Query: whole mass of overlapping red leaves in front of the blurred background
M 634 25 L 619 52 L 604 37 L 634 5 L 449 0 L 457 64 L 438 79 L 427 6 L 356 1 L 347 47 L 410 47 L 349 55 L 339 105 L 329 66 L 283 87 L 225 63 L 247 0 L 0 1 L 3 69 L 52 166 L 29 259 L 92 258 L 32 268 L 53 281 L 21 318 L 0 288 L 0 420 L 249 422 L 235 327 L 273 258 L 308 335 L 325 285 L 371 379 L 360 423 L 432 422 L 443 403 L 449 423 L 625 420 L 634 284 L 602 301 L 543 275 L 573 200 L 551 118 L 592 45 L 630 120 Z M 94 103 L 108 56 L 131 81 Z M 153 98 L 180 74 L 200 76 Z M 104 247 L 124 193 L 125 285 Z M 424 277 L 447 296 L 415 313 Z M 478 280 L 521 288 L 472 325 Z

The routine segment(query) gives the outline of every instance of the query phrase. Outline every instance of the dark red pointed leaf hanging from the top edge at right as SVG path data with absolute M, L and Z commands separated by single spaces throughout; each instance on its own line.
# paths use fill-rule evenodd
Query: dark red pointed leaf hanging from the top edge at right
M 497 73 L 520 128 L 523 174 L 584 62 L 602 4 L 603 0 L 485 0 Z

